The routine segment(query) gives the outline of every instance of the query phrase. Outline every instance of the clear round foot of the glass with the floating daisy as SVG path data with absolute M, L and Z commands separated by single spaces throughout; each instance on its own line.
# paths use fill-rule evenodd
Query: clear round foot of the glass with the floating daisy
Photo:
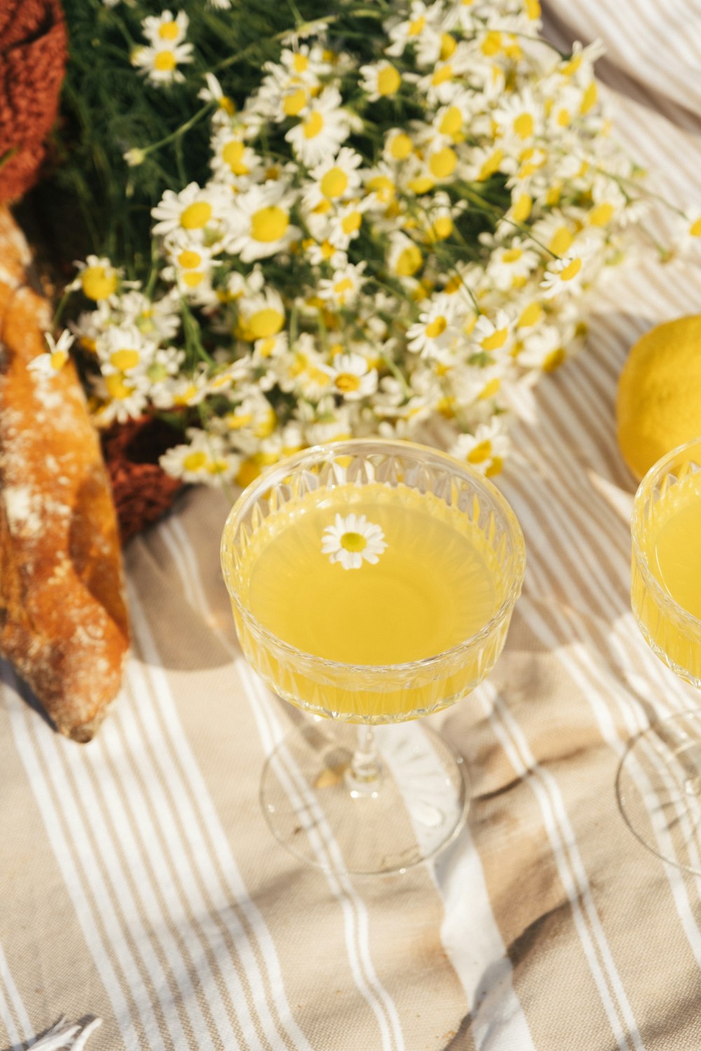
M 269 757 L 261 805 L 273 836 L 326 871 L 398 872 L 433 858 L 469 805 L 461 757 L 418 722 L 373 727 L 379 778 L 353 777 L 357 726 L 309 719 Z

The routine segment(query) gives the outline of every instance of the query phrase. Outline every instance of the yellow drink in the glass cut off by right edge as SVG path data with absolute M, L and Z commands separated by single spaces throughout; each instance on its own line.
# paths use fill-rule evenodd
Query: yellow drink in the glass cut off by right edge
M 654 576 L 699 624 L 695 628 L 655 603 L 635 565 L 634 611 L 654 648 L 701 686 L 701 474 L 681 478 L 659 498 L 648 533 L 645 554 Z

